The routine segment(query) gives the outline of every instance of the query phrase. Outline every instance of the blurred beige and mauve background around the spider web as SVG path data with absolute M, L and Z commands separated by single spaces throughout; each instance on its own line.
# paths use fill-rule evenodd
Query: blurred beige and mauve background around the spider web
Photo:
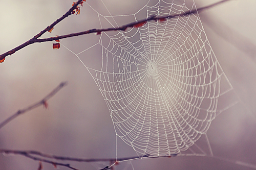
M 103 2 L 103 3 L 102 3 Z M 175 1 L 180 3 L 183 1 Z M 197 8 L 216 0 L 195 0 Z M 143 1 L 87 1 L 97 12 L 109 15 L 134 14 Z M 188 5 L 193 1 L 187 1 Z M 3 54 L 44 30 L 71 7 L 73 1 L 0 1 L 0 53 Z M 80 15 L 71 15 L 42 37 L 100 28 L 98 14 L 84 4 Z M 106 8 L 105 8 L 106 7 Z M 235 95 L 241 102 L 222 112 L 207 132 L 218 158 L 254 163 L 256 160 L 256 16 L 254 0 L 230 1 L 200 13 L 209 42 Z M 129 19 L 122 20 L 126 23 Z M 123 24 L 124 24 L 123 23 Z M 97 35 L 61 40 L 79 53 L 98 41 Z M 91 57 L 101 58 L 100 53 Z M 93 62 L 93 61 L 92 61 Z M 93 64 L 93 63 L 89 63 Z M 0 64 L 0 122 L 18 109 L 47 95 L 60 82 L 68 86 L 39 107 L 0 129 L 0 148 L 36 150 L 61 156 L 115 158 L 116 137 L 108 107 L 86 67 L 65 47 L 52 49 L 52 42 L 29 45 Z M 117 139 L 118 157 L 136 156 Z M 252 169 L 212 157 L 178 156 L 120 163 L 116 169 Z M 79 169 L 100 169 L 109 162 L 76 163 Z M 44 169 L 54 169 L 43 163 Z M 38 162 L 19 155 L 0 155 L 0 169 L 37 169 Z M 59 167 L 59 169 L 67 169 Z

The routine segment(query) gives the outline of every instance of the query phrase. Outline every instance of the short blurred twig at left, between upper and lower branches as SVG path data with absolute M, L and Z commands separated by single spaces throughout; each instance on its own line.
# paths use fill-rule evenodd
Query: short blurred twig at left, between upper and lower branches
M 12 116 L 8 117 L 6 120 L 4 120 L 4 122 L 0 123 L 0 129 L 3 128 L 6 124 L 8 124 L 9 122 L 11 122 L 11 120 L 13 120 L 14 118 L 16 118 L 18 115 L 23 114 L 25 112 L 28 112 L 38 106 L 44 105 L 45 107 L 47 107 L 47 101 L 52 98 L 53 95 L 55 95 L 62 87 L 66 86 L 67 82 L 62 82 L 60 83 L 52 92 L 50 92 L 47 96 L 45 96 L 44 99 L 40 100 L 39 102 L 28 106 L 22 110 L 18 110 L 16 113 L 14 113 Z

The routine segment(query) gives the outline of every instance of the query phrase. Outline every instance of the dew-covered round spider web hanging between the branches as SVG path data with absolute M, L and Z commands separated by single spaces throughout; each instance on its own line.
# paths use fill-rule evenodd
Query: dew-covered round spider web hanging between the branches
M 141 13 L 145 17 L 167 16 L 193 9 L 195 3 L 188 8 L 185 1 L 178 5 L 161 0 L 154 5 L 149 1 L 133 15 L 97 14 L 101 27 L 106 28 L 105 23 L 117 26 L 116 18 L 120 17 L 137 21 Z M 218 105 L 232 86 L 212 51 L 199 15 L 150 21 L 140 28 L 97 36 L 96 44 L 74 54 L 99 87 L 117 136 L 137 154 L 170 156 L 187 150 L 197 154 L 191 148 L 198 147 L 195 142 L 205 135 L 213 155 L 206 132 L 211 121 L 236 102 Z M 92 48 L 101 49 L 102 60 L 95 68 L 84 59 Z M 202 150 L 200 153 L 206 155 Z

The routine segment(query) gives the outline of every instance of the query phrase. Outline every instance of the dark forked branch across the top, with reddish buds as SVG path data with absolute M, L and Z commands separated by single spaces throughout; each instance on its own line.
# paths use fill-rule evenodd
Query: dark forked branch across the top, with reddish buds
M 191 15 L 191 14 L 197 14 L 200 13 L 206 9 L 210 9 L 213 8 L 217 5 L 220 5 L 222 3 L 231 1 L 231 0 L 223 0 L 202 8 L 198 8 L 198 9 L 194 9 L 191 11 L 187 11 L 187 12 L 183 12 L 181 14 L 176 14 L 176 15 L 168 15 L 168 16 L 164 16 L 164 17 L 156 17 L 156 16 L 151 16 L 150 18 L 147 19 L 143 19 L 137 22 L 131 22 L 127 25 L 121 26 L 121 27 L 117 27 L 117 28 L 106 28 L 106 29 L 90 29 L 87 31 L 82 31 L 82 32 L 78 32 L 78 33 L 72 33 L 72 34 L 67 34 L 67 35 L 61 35 L 61 36 L 57 36 L 57 37 L 50 37 L 50 38 L 39 38 L 42 34 L 44 34 L 46 31 L 48 31 L 49 29 L 53 28 L 58 22 L 60 22 L 61 20 L 63 20 L 64 18 L 66 18 L 67 16 L 71 15 L 71 12 L 75 9 L 75 7 L 77 7 L 77 5 L 81 2 L 82 0 L 79 0 L 76 5 L 74 5 L 66 14 L 64 14 L 62 17 L 60 17 L 59 19 L 57 19 L 55 22 L 52 23 L 52 25 L 48 26 L 45 30 L 41 31 L 39 34 L 37 34 L 36 36 L 34 36 L 33 38 L 31 38 L 30 40 L 28 40 L 27 42 L 13 48 L 12 50 L 0 55 L 0 61 L 5 59 L 6 56 L 11 55 L 13 53 L 15 53 L 16 51 L 24 48 L 27 45 L 33 44 L 35 42 L 48 42 L 48 41 L 54 41 L 54 40 L 59 40 L 59 39 L 63 39 L 63 38 L 69 38 L 69 37 L 74 37 L 74 36 L 79 36 L 79 35 L 84 35 L 84 34 L 90 34 L 90 33 L 101 33 L 101 32 L 106 32 L 106 31 L 125 31 L 127 28 L 132 28 L 132 27 L 136 27 L 136 25 L 139 25 L 141 23 L 146 23 L 148 21 L 157 21 L 157 20 L 161 20 L 161 19 L 170 19 L 170 18 L 176 18 L 176 17 L 183 17 L 186 15 Z

